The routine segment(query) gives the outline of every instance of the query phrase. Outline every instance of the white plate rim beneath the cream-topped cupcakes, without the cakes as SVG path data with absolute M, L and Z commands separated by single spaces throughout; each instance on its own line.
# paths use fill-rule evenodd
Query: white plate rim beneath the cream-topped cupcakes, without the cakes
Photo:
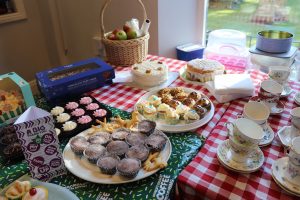
M 183 89 L 187 93 L 197 92 L 196 90 L 193 90 L 191 88 L 183 88 Z M 156 95 L 158 91 L 159 90 L 153 90 L 153 91 L 150 91 L 150 92 L 147 92 L 146 94 L 144 94 L 136 102 L 136 104 L 134 106 L 134 109 L 137 110 L 136 106 L 139 102 L 147 100 L 151 95 Z M 206 113 L 205 116 L 202 119 L 197 120 L 193 123 L 189 123 L 189 124 L 184 123 L 184 121 L 182 120 L 182 122 L 179 122 L 179 124 L 176 124 L 176 125 L 165 124 L 164 120 L 157 120 L 156 121 L 156 128 L 161 130 L 161 131 L 168 132 L 168 133 L 181 133 L 181 132 L 187 132 L 187 131 L 195 130 L 195 129 L 205 125 L 207 122 L 209 122 L 211 120 L 211 118 L 214 116 L 214 113 L 215 113 L 214 104 L 211 102 L 211 100 L 207 96 L 205 96 L 201 92 L 197 92 L 197 93 L 199 93 L 203 97 L 207 98 L 209 100 L 210 104 L 211 104 L 211 108 L 210 108 L 209 112 Z M 144 118 L 142 115 L 140 115 L 140 116 L 142 118 Z

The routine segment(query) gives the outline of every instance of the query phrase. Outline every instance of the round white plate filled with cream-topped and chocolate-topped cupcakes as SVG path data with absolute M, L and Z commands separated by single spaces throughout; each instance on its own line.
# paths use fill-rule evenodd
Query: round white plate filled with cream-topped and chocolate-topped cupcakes
M 157 123 L 157 129 L 170 132 L 195 130 L 208 123 L 215 112 L 211 100 L 190 88 L 175 87 L 152 90 L 136 103 L 142 119 Z

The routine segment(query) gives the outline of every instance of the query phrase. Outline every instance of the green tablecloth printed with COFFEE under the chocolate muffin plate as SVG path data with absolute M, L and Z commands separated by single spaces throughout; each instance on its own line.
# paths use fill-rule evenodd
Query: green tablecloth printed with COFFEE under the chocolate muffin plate
M 39 105 L 40 104 L 40 105 Z M 44 102 L 38 106 L 48 109 Z M 107 106 L 113 115 L 120 115 L 122 118 L 129 118 L 130 113 Z M 176 178 L 181 170 L 197 154 L 203 144 L 203 138 L 193 133 L 170 133 L 167 134 L 172 143 L 172 154 L 168 166 L 137 182 L 103 185 L 87 182 L 77 178 L 71 173 L 66 173 L 53 178 L 50 182 L 70 189 L 80 199 L 169 199 L 174 190 Z M 65 147 L 68 140 L 61 141 L 61 149 Z M 20 176 L 28 173 L 27 163 L 5 163 L 0 157 L 0 187 L 3 188 Z

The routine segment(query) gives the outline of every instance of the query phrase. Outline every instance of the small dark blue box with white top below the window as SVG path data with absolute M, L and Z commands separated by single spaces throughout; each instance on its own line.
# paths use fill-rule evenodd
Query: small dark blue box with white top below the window
M 204 47 L 199 44 L 185 44 L 176 47 L 177 59 L 190 61 L 196 58 L 203 58 Z

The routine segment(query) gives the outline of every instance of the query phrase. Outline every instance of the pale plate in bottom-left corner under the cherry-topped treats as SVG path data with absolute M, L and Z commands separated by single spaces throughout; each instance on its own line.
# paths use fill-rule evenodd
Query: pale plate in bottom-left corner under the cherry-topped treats
M 79 198 L 72 193 L 70 190 L 53 183 L 42 182 L 36 179 L 32 179 L 28 175 L 24 175 L 18 179 L 19 181 L 30 181 L 32 186 L 44 186 L 48 189 L 48 199 L 49 200 L 79 200 Z M 12 186 L 13 183 L 6 186 L 1 192 L 0 195 L 5 195 L 5 191 Z

